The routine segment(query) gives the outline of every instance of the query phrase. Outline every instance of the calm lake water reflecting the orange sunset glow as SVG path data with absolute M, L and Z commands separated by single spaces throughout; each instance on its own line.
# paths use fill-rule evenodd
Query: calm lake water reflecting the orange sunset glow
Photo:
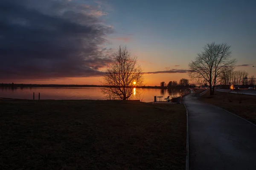
M 138 94 L 140 91 L 140 94 Z M 35 92 L 35 99 L 55 99 L 55 100 L 69 100 L 69 99 L 93 99 L 105 100 L 107 99 L 102 94 L 100 88 L 0 88 L 0 97 L 12 99 L 33 99 L 33 92 Z M 172 89 L 154 89 L 143 88 L 134 89 L 131 99 L 140 99 L 143 102 L 153 102 L 154 96 L 163 96 L 162 100 L 167 96 L 180 96 L 180 91 Z M 158 98 L 157 98 L 158 100 Z

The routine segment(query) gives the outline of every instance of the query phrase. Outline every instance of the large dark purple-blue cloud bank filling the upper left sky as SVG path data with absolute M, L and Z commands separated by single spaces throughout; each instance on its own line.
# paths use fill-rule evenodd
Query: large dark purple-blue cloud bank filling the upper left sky
M 105 15 L 77 0 L 0 0 L 0 78 L 45 79 L 104 74 L 113 33 Z

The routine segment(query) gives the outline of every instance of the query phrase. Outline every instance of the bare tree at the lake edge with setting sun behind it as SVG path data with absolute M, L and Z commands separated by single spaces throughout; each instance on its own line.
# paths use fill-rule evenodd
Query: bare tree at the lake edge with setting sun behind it
M 143 82 L 143 70 L 137 64 L 137 57 L 131 57 L 126 45 L 119 45 L 101 82 L 105 86 L 102 92 L 109 99 L 127 100 L 134 94 L 134 88 L 143 86 Z M 138 92 L 136 90 L 136 94 Z

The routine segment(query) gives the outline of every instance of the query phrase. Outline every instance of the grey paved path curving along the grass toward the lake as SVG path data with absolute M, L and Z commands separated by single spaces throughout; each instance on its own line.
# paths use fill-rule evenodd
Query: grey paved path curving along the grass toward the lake
M 190 170 L 256 170 L 256 126 L 186 96 Z

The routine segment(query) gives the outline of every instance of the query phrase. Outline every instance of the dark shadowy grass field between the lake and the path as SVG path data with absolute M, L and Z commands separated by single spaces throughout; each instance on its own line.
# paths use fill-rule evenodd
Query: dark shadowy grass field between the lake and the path
M 0 100 L 0 169 L 185 169 L 183 105 Z

